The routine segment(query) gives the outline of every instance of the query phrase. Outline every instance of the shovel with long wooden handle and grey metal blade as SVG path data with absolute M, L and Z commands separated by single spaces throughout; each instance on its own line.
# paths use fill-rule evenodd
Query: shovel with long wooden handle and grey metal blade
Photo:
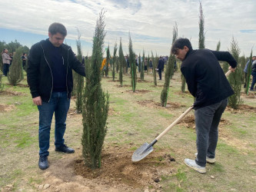
M 228 70 L 228 72 L 225 74 L 226 77 L 228 77 L 228 75 L 231 73 L 231 70 Z M 178 121 L 180 121 L 182 118 L 185 117 L 186 114 L 188 114 L 193 108 L 193 105 L 187 109 L 187 111 L 185 111 L 183 114 L 181 114 L 181 116 L 179 118 L 177 118 L 172 124 L 170 124 L 165 131 L 161 132 L 161 134 L 158 135 L 158 137 L 155 137 L 154 141 L 152 141 L 150 144 L 148 144 L 147 142 L 145 142 L 145 144 L 142 144 L 141 147 L 139 147 L 133 154 L 131 157 L 131 161 L 133 162 L 137 162 L 137 161 L 141 161 L 141 159 L 144 159 L 145 157 L 147 157 L 148 154 L 150 154 L 153 151 L 153 145 L 158 142 L 159 139 L 161 139 L 161 137 L 163 137 L 170 129 L 171 127 L 174 127 L 175 124 L 178 124 Z

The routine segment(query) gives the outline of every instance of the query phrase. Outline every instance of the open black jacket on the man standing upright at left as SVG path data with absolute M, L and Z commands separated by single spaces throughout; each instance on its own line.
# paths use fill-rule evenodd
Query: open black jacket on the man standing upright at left
M 50 59 L 49 45 L 51 44 L 49 43 L 51 42 L 46 39 L 32 45 L 28 55 L 27 68 L 27 80 L 32 98 L 41 96 L 42 101 L 45 102 L 50 100 L 53 87 L 52 65 L 54 64 Z M 75 58 L 71 47 L 62 44 L 61 50 L 64 65 L 67 69 L 66 87 L 68 98 L 71 98 L 71 91 L 73 89 L 72 69 L 78 74 L 85 76 L 85 66 Z

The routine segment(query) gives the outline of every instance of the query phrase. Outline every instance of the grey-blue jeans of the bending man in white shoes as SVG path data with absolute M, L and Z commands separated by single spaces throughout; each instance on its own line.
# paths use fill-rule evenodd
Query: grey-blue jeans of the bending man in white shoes
M 228 98 L 225 98 L 221 102 L 194 111 L 198 148 L 198 157 L 195 162 L 202 167 L 206 165 L 206 157 L 215 157 L 218 143 L 218 124 L 227 105 Z

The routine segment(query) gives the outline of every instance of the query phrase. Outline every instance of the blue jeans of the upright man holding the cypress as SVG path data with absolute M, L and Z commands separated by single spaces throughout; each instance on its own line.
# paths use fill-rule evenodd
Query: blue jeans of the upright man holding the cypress
M 55 114 L 55 147 L 61 147 L 64 144 L 64 134 L 66 129 L 66 118 L 70 106 L 67 92 L 52 92 L 49 102 L 42 102 L 38 105 L 39 111 L 39 155 L 48 156 L 50 131 L 52 116 Z

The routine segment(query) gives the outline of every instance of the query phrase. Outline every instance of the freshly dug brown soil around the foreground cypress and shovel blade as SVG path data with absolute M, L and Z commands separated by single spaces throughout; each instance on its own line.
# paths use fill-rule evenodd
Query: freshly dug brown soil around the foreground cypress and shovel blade
M 144 188 L 148 185 L 158 188 L 162 171 L 170 173 L 171 161 L 175 161 L 170 154 L 152 153 L 137 163 L 131 162 L 132 152 L 119 147 L 107 149 L 102 153 L 100 169 L 91 170 L 85 167 L 82 158 L 75 161 L 75 174 L 82 177 L 101 180 L 101 184 L 110 186 L 129 186 Z M 169 169 L 169 171 L 168 171 Z

